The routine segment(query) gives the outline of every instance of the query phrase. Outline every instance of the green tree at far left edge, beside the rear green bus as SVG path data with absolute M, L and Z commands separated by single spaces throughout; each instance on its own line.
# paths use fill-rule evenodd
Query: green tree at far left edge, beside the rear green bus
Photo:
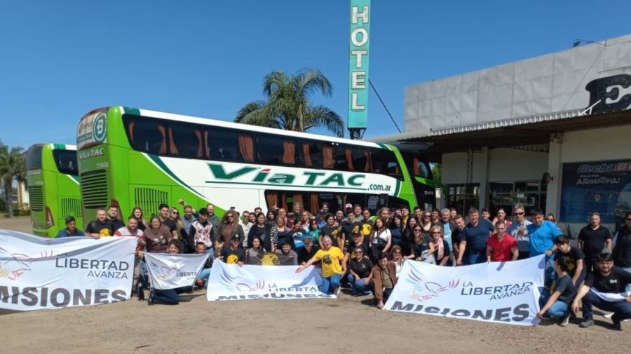
M 12 147 L 0 142 L 0 180 L 4 191 L 4 202 L 9 217 L 13 217 L 13 179 L 26 181 L 26 161 L 21 147 Z

